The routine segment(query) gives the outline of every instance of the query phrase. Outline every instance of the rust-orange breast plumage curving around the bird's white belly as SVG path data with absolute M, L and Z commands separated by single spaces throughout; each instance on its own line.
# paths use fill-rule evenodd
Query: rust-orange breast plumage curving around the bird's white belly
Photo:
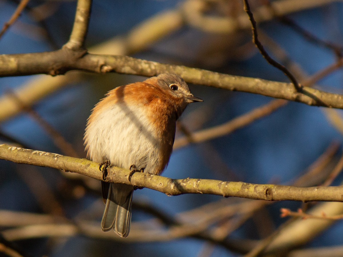
M 155 87 L 154 81 L 136 82 L 125 86 L 120 86 L 110 90 L 106 97 L 94 107 L 88 123 L 97 119 L 98 113 L 107 106 L 116 105 L 123 102 L 129 106 L 146 110 L 146 117 L 154 128 L 155 136 L 160 142 L 159 163 L 155 174 L 161 174 L 168 164 L 173 150 L 175 127 L 177 119 L 177 99 L 168 92 L 164 92 L 159 87 Z

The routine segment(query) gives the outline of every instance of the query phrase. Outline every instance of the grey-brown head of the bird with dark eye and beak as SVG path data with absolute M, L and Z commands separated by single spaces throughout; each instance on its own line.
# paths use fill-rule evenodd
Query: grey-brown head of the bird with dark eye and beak
M 158 75 L 157 84 L 172 96 L 182 100 L 185 108 L 189 103 L 203 101 L 198 97 L 194 97 L 184 79 L 176 74 L 162 73 Z

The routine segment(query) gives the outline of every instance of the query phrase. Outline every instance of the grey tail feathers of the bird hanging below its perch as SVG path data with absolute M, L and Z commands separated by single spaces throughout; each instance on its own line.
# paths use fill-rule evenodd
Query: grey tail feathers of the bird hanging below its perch
M 103 184 L 103 186 L 107 186 Z M 125 184 L 108 184 L 108 195 L 101 227 L 103 231 L 112 228 L 121 237 L 130 232 L 133 186 Z

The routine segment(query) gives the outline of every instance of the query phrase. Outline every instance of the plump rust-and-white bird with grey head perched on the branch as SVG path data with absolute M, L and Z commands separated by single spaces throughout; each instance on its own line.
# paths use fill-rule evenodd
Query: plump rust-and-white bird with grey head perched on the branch
M 175 139 L 176 121 L 189 103 L 202 102 L 184 79 L 162 73 L 143 82 L 116 87 L 91 111 L 84 133 L 87 158 L 108 166 L 161 175 Z M 130 232 L 133 185 L 102 181 L 104 232 Z

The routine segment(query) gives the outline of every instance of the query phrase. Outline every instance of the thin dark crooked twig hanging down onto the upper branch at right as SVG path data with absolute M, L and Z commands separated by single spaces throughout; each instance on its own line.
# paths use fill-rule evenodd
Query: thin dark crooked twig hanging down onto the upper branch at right
M 293 83 L 295 90 L 297 92 L 301 92 L 303 88 L 301 85 L 299 85 L 299 83 L 297 82 L 297 80 L 293 76 L 293 74 L 291 72 L 289 72 L 285 66 L 283 66 L 282 64 L 278 63 L 273 58 L 271 58 L 269 56 L 269 54 L 267 53 L 267 51 L 264 49 L 263 45 L 261 44 L 261 42 L 258 39 L 257 25 L 256 25 L 256 21 L 253 17 L 253 14 L 250 10 L 249 2 L 248 2 L 248 0 L 243 0 L 243 1 L 244 1 L 244 10 L 248 14 L 249 20 L 251 21 L 251 25 L 252 25 L 252 41 L 257 46 L 257 48 L 260 50 L 262 56 L 267 60 L 267 62 L 269 62 L 275 68 L 281 70 L 289 78 L 289 80 Z

